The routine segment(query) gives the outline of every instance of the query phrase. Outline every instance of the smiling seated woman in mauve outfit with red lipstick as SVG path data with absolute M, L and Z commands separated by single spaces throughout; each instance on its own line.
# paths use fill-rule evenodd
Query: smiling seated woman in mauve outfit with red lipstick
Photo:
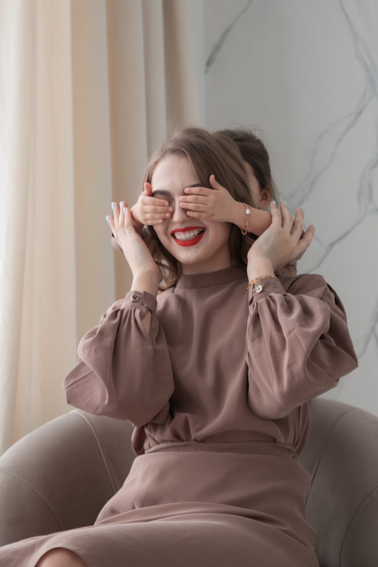
M 126 204 L 109 217 L 133 284 L 79 342 L 64 387 L 75 407 L 134 425 L 124 485 L 94 526 L 8 545 L 0 564 L 318 566 L 297 456 L 308 400 L 358 362 L 324 278 L 277 276 L 313 237 L 311 226 L 301 238 L 301 208 L 293 219 L 272 202 L 269 228 L 251 239 L 180 205 L 214 173 L 247 203 L 243 160 L 225 139 L 185 129 L 152 156 L 145 183 L 172 214 L 147 243 Z

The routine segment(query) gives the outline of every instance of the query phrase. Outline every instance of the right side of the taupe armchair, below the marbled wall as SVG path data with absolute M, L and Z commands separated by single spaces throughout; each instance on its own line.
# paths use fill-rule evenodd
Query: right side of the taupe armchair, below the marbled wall
M 311 475 L 306 510 L 321 567 L 378 565 L 378 417 L 342 402 L 310 402 L 299 462 Z

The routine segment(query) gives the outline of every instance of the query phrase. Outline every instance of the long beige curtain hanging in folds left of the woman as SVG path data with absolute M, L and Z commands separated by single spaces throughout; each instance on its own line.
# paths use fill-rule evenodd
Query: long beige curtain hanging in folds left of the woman
M 189 0 L 0 0 L 0 452 L 72 409 L 80 338 L 124 297 L 111 202 L 198 124 Z

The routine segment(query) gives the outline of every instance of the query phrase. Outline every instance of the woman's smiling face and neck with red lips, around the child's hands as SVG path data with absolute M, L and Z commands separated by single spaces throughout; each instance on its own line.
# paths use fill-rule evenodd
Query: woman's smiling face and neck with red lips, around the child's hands
M 183 155 L 168 155 L 155 167 L 152 196 L 169 201 L 171 217 L 154 229 L 160 242 L 181 263 L 183 274 L 216 272 L 232 265 L 228 249 L 231 223 L 186 215 L 179 197 L 185 187 L 201 187 L 192 162 Z M 201 234 L 198 234 L 199 231 Z M 175 232 L 173 232 L 175 231 Z

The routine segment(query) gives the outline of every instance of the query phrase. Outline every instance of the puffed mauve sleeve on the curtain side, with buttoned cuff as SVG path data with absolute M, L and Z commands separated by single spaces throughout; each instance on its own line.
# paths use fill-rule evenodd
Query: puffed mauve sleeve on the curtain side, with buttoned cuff
M 155 416 L 159 423 L 165 421 L 174 386 L 156 306 L 154 295 L 129 291 L 108 308 L 79 342 L 77 365 L 63 382 L 67 403 L 134 426 L 155 421 Z M 149 333 L 142 323 L 147 310 Z

